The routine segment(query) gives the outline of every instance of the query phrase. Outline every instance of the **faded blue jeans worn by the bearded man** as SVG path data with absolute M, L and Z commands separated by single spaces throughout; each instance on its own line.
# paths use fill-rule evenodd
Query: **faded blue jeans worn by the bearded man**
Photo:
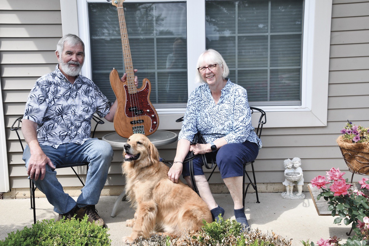
M 83 145 L 65 143 L 59 145 L 57 149 L 46 145 L 41 145 L 41 148 L 45 155 L 51 159 L 54 166 L 89 163 L 85 186 L 82 188 L 82 193 L 79 195 L 77 202 L 63 191 L 62 185 L 56 178 L 56 171 L 48 164 L 46 164 L 45 178 L 43 180 L 32 180 L 36 187 L 46 195 L 50 204 L 54 206 L 54 211 L 58 214 L 65 214 L 76 205 L 84 207 L 97 204 L 108 176 L 110 163 L 113 160 L 113 149 L 111 149 L 110 144 L 93 138 L 87 140 Z M 23 152 L 26 168 L 28 168 L 30 157 L 30 148 L 27 145 Z

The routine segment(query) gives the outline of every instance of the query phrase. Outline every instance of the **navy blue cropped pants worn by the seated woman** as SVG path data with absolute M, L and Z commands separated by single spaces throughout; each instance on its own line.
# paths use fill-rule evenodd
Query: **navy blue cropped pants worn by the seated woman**
M 245 141 L 244 143 L 227 143 L 215 152 L 206 153 L 208 163 L 211 157 L 216 160 L 222 179 L 244 176 L 244 163 L 256 159 L 259 147 L 256 143 Z M 186 158 L 189 157 L 190 152 Z M 204 175 L 204 163 L 200 155 L 192 160 L 194 175 Z M 183 163 L 182 176 L 190 176 L 190 162 Z

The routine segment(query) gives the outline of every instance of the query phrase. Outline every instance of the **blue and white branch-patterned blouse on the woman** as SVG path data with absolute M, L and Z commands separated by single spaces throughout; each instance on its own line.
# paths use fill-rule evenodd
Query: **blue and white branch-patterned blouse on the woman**
M 218 104 L 215 104 L 207 84 L 192 91 L 178 139 L 192 141 L 199 131 L 208 143 L 224 137 L 227 143 L 248 140 L 258 144 L 261 149 L 261 140 L 254 129 L 246 90 L 228 79 L 221 90 Z

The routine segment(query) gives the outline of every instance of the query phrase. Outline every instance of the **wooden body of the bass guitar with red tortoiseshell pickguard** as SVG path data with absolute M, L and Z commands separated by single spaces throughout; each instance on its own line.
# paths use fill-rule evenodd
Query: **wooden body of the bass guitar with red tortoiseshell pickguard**
M 118 135 L 129 138 L 134 133 L 146 136 L 153 134 L 159 126 L 159 118 L 149 97 L 151 84 L 148 79 L 142 81 L 140 89 L 130 88 L 121 82 L 117 70 L 110 72 L 110 84 L 118 98 L 118 107 L 114 116 L 114 128 Z

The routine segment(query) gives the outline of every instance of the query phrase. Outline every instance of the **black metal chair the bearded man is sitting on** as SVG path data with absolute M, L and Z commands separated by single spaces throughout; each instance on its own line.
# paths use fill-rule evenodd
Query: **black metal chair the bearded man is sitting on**
M 22 151 L 24 151 L 23 143 L 22 143 L 22 140 L 21 140 L 21 138 L 19 136 L 19 133 L 18 133 L 18 129 L 20 128 L 20 124 L 22 123 L 22 119 L 23 119 L 23 116 L 15 119 L 13 125 L 11 125 L 10 130 L 11 131 L 15 131 L 15 133 L 18 136 L 18 140 L 19 140 L 19 142 L 21 144 Z M 93 138 L 95 136 L 97 125 L 99 125 L 99 124 L 102 125 L 105 122 L 103 120 L 101 120 L 100 118 L 96 117 L 95 115 L 93 115 L 92 119 L 96 122 L 95 128 L 94 128 L 93 133 L 92 133 L 92 138 Z M 56 166 L 56 168 L 57 169 L 58 168 L 64 168 L 64 167 L 70 167 L 70 168 L 72 168 L 72 170 L 76 174 L 77 178 L 82 183 L 82 186 L 85 186 L 85 183 L 83 183 L 82 179 L 79 177 L 79 175 L 77 174 L 76 170 L 73 168 L 73 167 L 80 167 L 80 166 L 86 166 L 86 168 L 87 168 L 86 173 L 87 173 L 88 168 L 89 168 L 89 163 L 88 162 L 74 163 L 74 164 L 63 165 L 63 166 Z M 34 224 L 36 224 L 36 206 L 35 206 L 35 190 L 36 190 L 36 188 L 37 187 L 35 187 L 35 184 L 30 179 L 30 200 L 31 200 L 31 207 L 30 207 L 30 209 L 33 210 L 33 223 Z

